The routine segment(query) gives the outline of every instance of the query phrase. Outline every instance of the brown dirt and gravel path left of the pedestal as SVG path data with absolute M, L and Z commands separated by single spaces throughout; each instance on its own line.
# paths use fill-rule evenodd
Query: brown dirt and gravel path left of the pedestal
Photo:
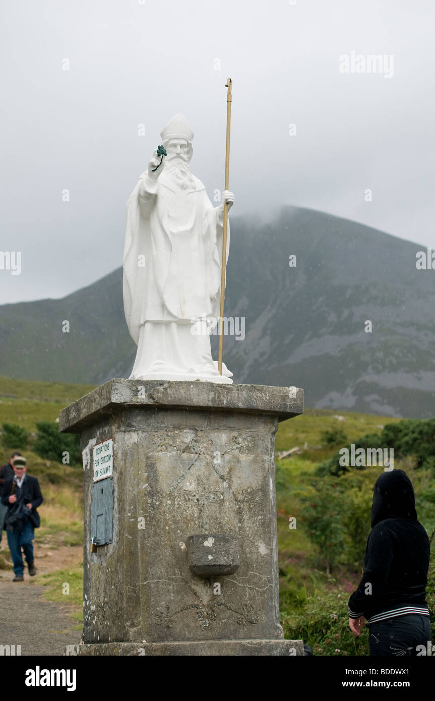
M 3 539 L 0 547 L 6 564 L 11 563 Z M 71 605 L 43 599 L 44 587 L 38 585 L 38 575 L 78 564 L 83 558 L 83 547 L 54 549 L 36 540 L 34 556 L 38 574 L 32 583 L 27 566 L 24 582 L 12 581 L 12 569 L 0 570 L 0 645 L 20 645 L 22 655 L 63 655 L 67 645 L 80 642 L 81 631 L 72 629 L 78 624 L 71 618 Z

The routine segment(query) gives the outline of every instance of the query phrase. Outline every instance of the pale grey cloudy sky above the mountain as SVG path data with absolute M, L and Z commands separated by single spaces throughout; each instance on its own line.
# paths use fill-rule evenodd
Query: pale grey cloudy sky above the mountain
M 434 3 L 293 2 L 2 1 L 0 250 L 22 273 L 0 270 L 0 304 L 122 263 L 125 202 L 178 111 L 223 189 L 228 75 L 233 215 L 300 205 L 433 245 Z M 352 52 L 393 58 L 340 72 Z

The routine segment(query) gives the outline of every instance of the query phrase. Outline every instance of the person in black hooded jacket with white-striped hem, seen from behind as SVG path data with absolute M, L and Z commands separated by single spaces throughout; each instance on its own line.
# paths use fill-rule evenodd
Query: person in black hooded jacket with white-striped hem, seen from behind
M 349 599 L 350 628 L 360 635 L 366 618 L 371 655 L 417 655 L 417 646 L 427 649 L 431 640 L 425 591 L 430 547 L 403 470 L 376 480 L 371 526 L 364 575 Z

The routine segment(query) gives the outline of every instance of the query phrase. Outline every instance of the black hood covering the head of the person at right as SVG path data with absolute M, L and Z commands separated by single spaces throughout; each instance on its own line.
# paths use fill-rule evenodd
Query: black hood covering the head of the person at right
M 373 489 L 371 527 L 394 518 L 417 521 L 413 485 L 403 470 L 383 472 Z

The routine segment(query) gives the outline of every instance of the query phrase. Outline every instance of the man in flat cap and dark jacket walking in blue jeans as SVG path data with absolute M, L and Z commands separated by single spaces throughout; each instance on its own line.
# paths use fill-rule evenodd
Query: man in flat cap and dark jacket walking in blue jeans
M 13 459 L 13 478 L 6 479 L 1 493 L 1 502 L 8 506 L 4 529 L 7 531 L 9 550 L 13 560 L 14 582 L 24 580 L 24 562 L 21 548 L 24 550 L 29 575 L 36 574 L 34 566 L 33 543 L 34 528 L 39 527 L 39 514 L 36 508 L 42 503 L 41 489 L 36 477 L 26 475 L 25 458 Z

